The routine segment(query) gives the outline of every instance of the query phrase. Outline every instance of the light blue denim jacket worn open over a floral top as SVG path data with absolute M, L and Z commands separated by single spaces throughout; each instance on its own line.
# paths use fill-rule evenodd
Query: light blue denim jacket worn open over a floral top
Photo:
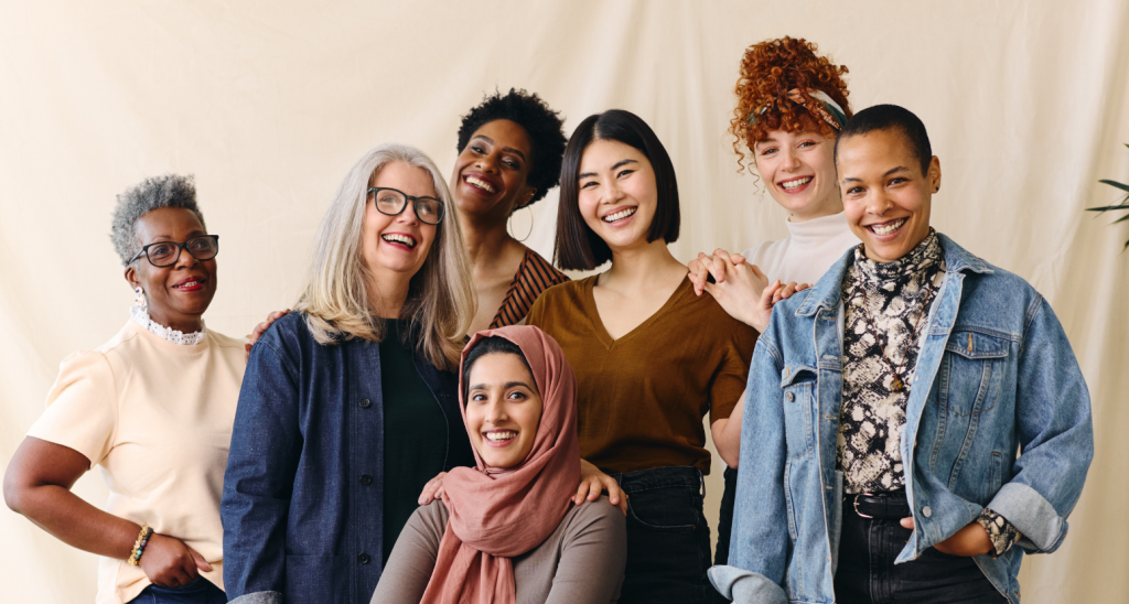
M 973 522 L 982 507 L 1023 537 L 975 557 L 1019 601 L 1023 551 L 1054 551 L 1094 454 L 1089 393 L 1062 327 L 1026 281 L 939 235 L 945 275 L 929 312 L 901 453 L 917 528 L 896 562 Z M 834 602 L 842 474 L 840 285 L 848 252 L 772 310 L 756 341 L 741 430 L 729 564 L 710 579 L 735 602 Z M 1022 455 L 1017 455 L 1022 450 Z

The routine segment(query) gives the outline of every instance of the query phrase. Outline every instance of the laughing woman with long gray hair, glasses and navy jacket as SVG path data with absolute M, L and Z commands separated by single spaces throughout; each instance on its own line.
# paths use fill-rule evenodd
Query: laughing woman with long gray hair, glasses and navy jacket
M 467 274 L 431 159 L 365 154 L 297 312 L 251 351 L 221 506 L 233 602 L 367 603 L 415 494 L 474 463 L 452 373 L 474 315 Z

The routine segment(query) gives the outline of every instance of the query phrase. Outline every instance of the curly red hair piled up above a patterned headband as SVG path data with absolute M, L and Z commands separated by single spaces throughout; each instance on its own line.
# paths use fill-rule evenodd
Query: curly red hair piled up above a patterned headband
M 788 36 L 745 50 L 736 87 L 737 107 L 729 122 L 729 132 L 736 137 L 733 150 L 737 154 L 738 169 L 744 169 L 744 150 L 752 150 L 771 130 L 817 131 L 828 138 L 838 134 L 830 124 L 788 98 L 793 88 L 821 90 L 843 108 L 848 119 L 851 116 L 847 102 L 850 93 L 842 79 L 847 68 L 832 64 L 826 56 L 816 54 L 816 50 L 814 43 Z M 762 107 L 768 110 L 749 123 L 749 116 Z

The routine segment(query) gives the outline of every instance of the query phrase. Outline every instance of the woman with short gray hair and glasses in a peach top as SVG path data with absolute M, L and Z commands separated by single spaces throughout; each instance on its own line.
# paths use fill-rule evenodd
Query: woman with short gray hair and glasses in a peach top
M 227 602 L 219 493 L 246 367 L 204 327 L 219 236 L 191 176 L 117 196 L 111 240 L 135 294 L 108 342 L 63 360 L 47 410 L 5 475 L 8 507 L 102 557 L 99 603 Z M 70 491 L 100 465 L 105 510 Z

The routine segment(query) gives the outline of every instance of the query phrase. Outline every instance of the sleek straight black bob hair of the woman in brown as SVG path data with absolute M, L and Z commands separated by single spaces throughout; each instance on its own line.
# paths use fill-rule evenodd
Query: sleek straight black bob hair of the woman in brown
M 611 110 L 589 115 L 576 126 L 564 148 L 561 166 L 560 208 L 557 211 L 557 265 L 569 271 L 590 271 L 612 260 L 612 251 L 580 216 L 580 159 L 584 150 L 597 140 L 614 140 L 634 147 L 650 161 L 655 170 L 655 189 L 658 191 L 658 207 L 651 219 L 647 242 L 663 239 L 674 243 L 679 239 L 679 182 L 674 177 L 674 164 L 666 148 L 659 142 L 655 131 L 638 115 Z

